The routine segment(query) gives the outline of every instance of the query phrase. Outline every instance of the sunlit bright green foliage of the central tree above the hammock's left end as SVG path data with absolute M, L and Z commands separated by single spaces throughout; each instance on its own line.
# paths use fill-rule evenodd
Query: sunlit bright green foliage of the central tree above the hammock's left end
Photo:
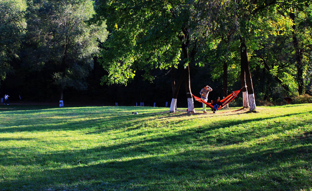
M 108 72 L 103 81 L 126 84 L 134 77 L 134 70 L 144 70 L 152 80 L 148 74 L 151 69 L 195 62 L 198 56 L 181 56 L 183 44 L 190 51 L 216 46 L 209 19 L 211 9 L 217 7 L 216 2 L 211 5 L 207 1 L 100 1 L 92 21 L 105 20 L 112 31 L 101 52 Z

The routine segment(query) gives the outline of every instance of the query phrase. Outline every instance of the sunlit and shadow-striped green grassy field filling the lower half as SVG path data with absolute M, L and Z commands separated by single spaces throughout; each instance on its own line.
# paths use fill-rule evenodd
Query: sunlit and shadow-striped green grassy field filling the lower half
M 0 190 L 158 189 L 312 190 L 312 104 L 0 106 Z

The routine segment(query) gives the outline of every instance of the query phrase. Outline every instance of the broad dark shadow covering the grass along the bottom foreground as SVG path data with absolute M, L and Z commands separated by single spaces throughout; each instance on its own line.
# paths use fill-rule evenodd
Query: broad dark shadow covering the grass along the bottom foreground
M 36 169 L 24 171 L 25 174 L 20 173 L 14 180 L 2 179 L 0 188 L 5 188 L 4 190 L 308 189 L 312 156 L 312 146 L 309 142 L 301 139 L 277 139 L 264 142 L 261 147 L 256 145 L 247 149 L 238 146 L 210 151 L 187 149 L 177 153 L 167 153 L 166 149 L 160 149 L 160 155 L 151 155 L 153 151 L 150 149 L 142 151 L 131 148 L 131 144 L 128 146 L 121 144 L 116 148 L 112 146 L 65 151 L 61 154 L 51 153 L 37 156 L 45 159 L 46 163 L 42 160 L 39 163 L 16 164 L 16 161 L 12 160 L 11 165 L 28 164 L 36 166 Z M 160 146 L 162 142 L 154 142 L 149 148 Z M 175 146 L 171 145 L 170 149 L 173 148 Z M 97 162 L 103 159 L 105 162 Z M 79 163 L 82 165 L 79 166 Z M 66 164 L 67 167 L 60 164 Z M 53 165 L 55 168 L 51 168 Z M 303 169 L 308 170 L 308 173 L 302 174 Z

